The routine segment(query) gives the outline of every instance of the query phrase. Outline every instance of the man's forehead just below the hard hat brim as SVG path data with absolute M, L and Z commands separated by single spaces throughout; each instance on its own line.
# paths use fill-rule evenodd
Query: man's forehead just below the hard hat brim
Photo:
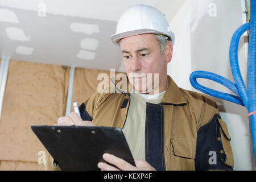
M 158 48 L 159 42 L 154 34 L 141 34 L 129 36 L 120 40 L 121 51 L 123 49 Z

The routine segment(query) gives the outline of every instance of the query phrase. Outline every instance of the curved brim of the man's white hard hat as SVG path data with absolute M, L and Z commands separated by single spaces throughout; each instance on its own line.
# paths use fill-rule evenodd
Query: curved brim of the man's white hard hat
M 134 35 L 141 35 L 141 34 L 162 34 L 162 35 L 167 35 L 170 37 L 170 41 L 172 45 L 174 44 L 174 34 L 172 32 L 159 32 L 151 29 L 140 29 L 140 30 L 133 30 L 133 31 L 127 31 L 119 34 L 114 34 L 110 36 L 110 40 L 116 45 L 120 46 L 119 42 L 123 38 L 127 38 L 129 36 L 134 36 Z

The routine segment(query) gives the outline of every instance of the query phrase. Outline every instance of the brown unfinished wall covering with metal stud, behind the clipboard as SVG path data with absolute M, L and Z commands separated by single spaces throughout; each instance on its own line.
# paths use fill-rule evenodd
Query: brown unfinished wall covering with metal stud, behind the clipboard
M 44 170 L 46 148 L 31 125 L 54 125 L 65 115 L 69 67 L 10 60 L 0 120 L 0 170 Z M 100 71 L 76 68 L 73 101 L 96 92 Z M 72 107 L 73 108 L 73 107 Z

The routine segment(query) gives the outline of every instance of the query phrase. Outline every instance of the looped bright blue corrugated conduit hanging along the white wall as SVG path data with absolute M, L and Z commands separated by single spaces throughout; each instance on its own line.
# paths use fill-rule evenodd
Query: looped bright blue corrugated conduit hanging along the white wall
M 195 71 L 192 72 L 189 79 L 191 85 L 201 92 L 209 94 L 210 96 L 221 98 L 226 101 L 234 102 L 236 104 L 245 106 L 248 111 L 248 118 L 250 121 L 251 141 L 253 143 L 254 159 L 256 157 L 256 0 L 251 0 L 251 15 L 250 23 L 245 23 L 240 26 L 233 34 L 229 48 L 229 59 L 232 75 L 235 83 L 232 81 L 216 75 L 211 72 Z M 243 32 L 249 30 L 249 53 L 248 53 L 248 71 L 247 71 L 247 88 L 242 80 L 240 68 L 238 65 L 238 43 Z M 218 92 L 200 85 L 196 79 L 206 78 L 208 80 L 216 81 L 226 88 L 232 90 L 237 96 L 232 94 Z M 255 160 L 254 160 L 255 161 Z

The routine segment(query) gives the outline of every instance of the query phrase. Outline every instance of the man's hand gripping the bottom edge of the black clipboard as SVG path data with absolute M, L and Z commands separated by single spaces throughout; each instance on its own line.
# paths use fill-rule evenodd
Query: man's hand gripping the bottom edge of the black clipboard
M 145 160 L 135 160 L 135 164 L 137 166 L 135 167 L 125 160 L 111 154 L 105 153 L 103 154 L 102 158 L 106 160 L 106 162 L 113 164 L 115 167 L 100 162 L 98 163 L 98 168 L 100 168 L 101 171 L 155 171 L 155 168 L 148 164 Z

